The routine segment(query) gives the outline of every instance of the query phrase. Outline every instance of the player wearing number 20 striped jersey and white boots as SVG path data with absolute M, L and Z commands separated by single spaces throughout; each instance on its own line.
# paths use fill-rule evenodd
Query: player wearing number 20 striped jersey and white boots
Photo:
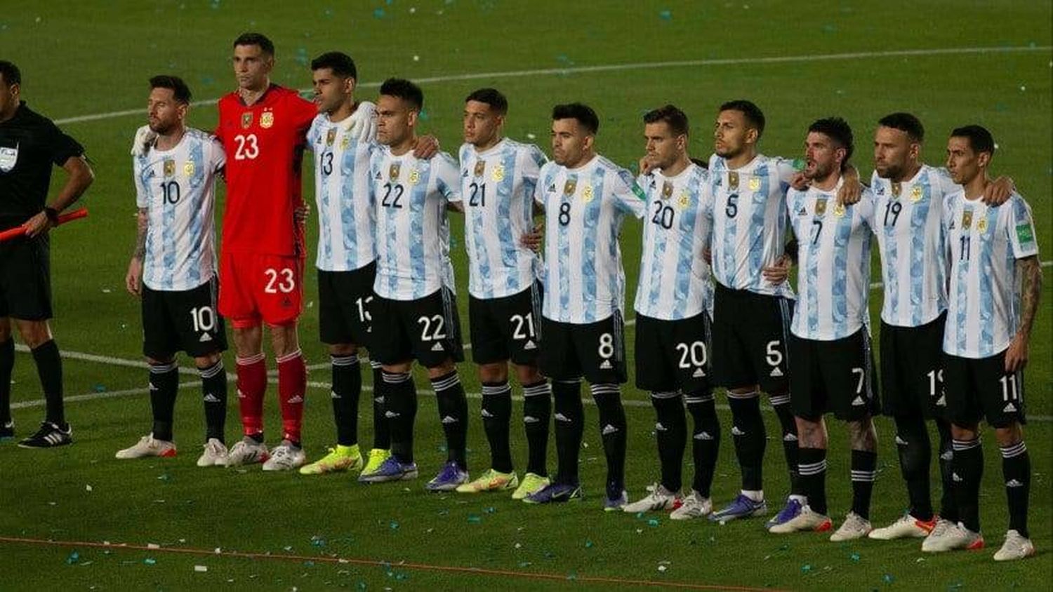
M 673 510 L 691 519 L 713 510 L 710 487 L 720 445 L 710 384 L 713 284 L 703 251 L 713 226 L 709 172 L 688 156 L 688 117 L 673 105 L 643 116 L 647 155 L 637 183 L 647 195 L 643 249 L 636 289 L 636 386 L 651 391 L 661 479 L 627 512 Z M 695 478 L 681 497 L 688 437 L 683 406 L 694 419 Z

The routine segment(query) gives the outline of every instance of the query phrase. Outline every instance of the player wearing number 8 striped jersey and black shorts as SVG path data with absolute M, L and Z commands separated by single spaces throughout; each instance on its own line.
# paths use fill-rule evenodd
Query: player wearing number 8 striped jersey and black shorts
M 607 456 L 603 509 L 617 511 L 629 501 L 619 387 L 627 379 L 621 312 L 625 280 L 618 233 L 627 216 L 643 216 L 643 191 L 631 172 L 596 154 L 599 118 L 591 107 L 556 105 L 552 120 L 554 162 L 541 167 L 534 200 L 549 220 L 540 366 L 553 381 L 558 470 L 549 486 L 524 501 L 545 504 L 581 496 L 583 376 L 599 411 Z

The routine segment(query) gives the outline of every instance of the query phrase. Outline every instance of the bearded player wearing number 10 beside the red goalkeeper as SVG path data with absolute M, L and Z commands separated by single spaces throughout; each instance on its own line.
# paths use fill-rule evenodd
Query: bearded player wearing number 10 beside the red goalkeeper
M 225 465 L 226 349 L 216 313 L 215 191 L 223 146 L 187 128 L 191 91 L 182 79 L 150 79 L 153 139 L 133 146 L 138 234 L 124 284 L 142 299 L 143 354 L 150 364 L 151 433 L 118 458 L 175 456 L 173 415 L 179 389 L 176 352 L 194 358 L 201 376 L 205 444 L 199 467 Z

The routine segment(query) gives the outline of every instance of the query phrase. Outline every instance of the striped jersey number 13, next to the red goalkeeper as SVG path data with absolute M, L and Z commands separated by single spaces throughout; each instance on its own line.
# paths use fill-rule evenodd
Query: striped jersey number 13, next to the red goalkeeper
M 369 138 L 371 126 L 353 127 L 353 119 L 334 123 L 327 114 L 318 114 L 307 130 L 307 146 L 315 154 L 316 265 L 325 271 L 353 271 L 377 258 L 370 202 L 375 138 Z

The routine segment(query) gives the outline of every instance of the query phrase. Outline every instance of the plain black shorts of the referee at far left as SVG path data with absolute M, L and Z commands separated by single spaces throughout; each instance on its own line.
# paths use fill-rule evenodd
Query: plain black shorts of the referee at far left
M 49 244 L 47 234 L 0 243 L 0 317 L 52 318 Z

